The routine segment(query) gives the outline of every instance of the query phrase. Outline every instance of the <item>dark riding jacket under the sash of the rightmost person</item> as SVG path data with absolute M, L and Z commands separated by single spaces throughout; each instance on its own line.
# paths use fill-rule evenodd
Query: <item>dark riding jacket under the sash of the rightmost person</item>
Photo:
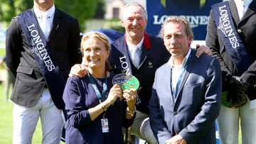
M 240 76 L 241 79 L 250 83 L 250 87 L 247 89 L 246 94 L 250 100 L 253 100 L 256 99 L 256 0 L 252 1 L 240 21 L 235 1 L 228 1 L 228 5 L 230 7 L 232 21 L 235 25 L 235 28 L 241 31 L 241 33 L 238 33 L 238 35 L 240 36 L 248 54 L 250 55 L 252 65 L 250 65 L 249 69 L 245 71 L 241 76 L 238 74 L 237 70 L 235 69 L 235 65 L 233 64 L 233 61 L 231 60 L 231 57 L 228 53 L 228 50 L 225 48 L 223 40 L 220 38 L 220 34 L 218 33 L 218 29 L 213 17 L 213 11 L 210 11 L 210 19 L 207 26 L 206 45 L 208 48 L 210 48 L 210 50 L 213 51 L 213 55 L 215 55 L 219 60 L 223 73 L 223 79 L 228 73 L 232 73 L 235 76 Z M 223 80 L 223 92 L 229 89 L 229 84 L 225 83 Z

